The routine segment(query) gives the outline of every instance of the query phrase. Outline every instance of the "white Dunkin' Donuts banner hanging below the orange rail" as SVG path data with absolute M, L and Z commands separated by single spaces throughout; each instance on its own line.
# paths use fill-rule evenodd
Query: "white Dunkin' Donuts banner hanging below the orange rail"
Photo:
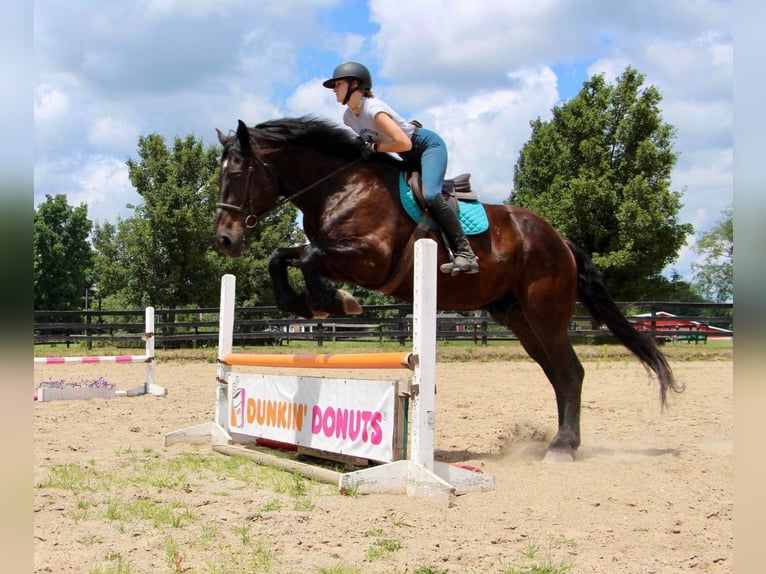
M 394 460 L 396 381 L 232 373 L 229 391 L 234 433 Z

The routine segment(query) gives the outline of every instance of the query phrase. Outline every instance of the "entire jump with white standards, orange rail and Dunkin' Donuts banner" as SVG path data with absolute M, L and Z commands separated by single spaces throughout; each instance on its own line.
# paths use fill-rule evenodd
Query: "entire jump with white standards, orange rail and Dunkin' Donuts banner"
M 253 443 L 259 437 L 265 437 L 278 442 L 306 445 L 312 450 L 384 461 L 384 464 L 338 476 L 339 489 L 360 494 L 406 493 L 451 505 L 459 494 L 493 489 L 494 478 L 489 475 L 434 460 L 436 247 L 436 243 L 430 239 L 421 239 L 415 245 L 411 353 L 293 355 L 288 358 L 234 354 L 235 278 L 233 275 L 225 275 L 221 280 L 214 421 L 168 433 L 165 435 L 165 445 L 212 442 L 215 449 L 225 444 Z M 278 364 L 271 363 L 272 360 Z M 412 371 L 412 378 L 402 382 L 279 377 L 237 373 L 232 370 L 232 366 L 236 365 L 407 368 Z M 275 388 L 278 390 L 270 390 Z M 247 405 L 244 404 L 245 394 L 248 397 Z M 279 400 L 279 397 L 288 399 Z M 409 397 L 412 403 L 408 458 L 400 449 L 406 443 L 408 431 L 403 424 L 406 405 L 404 397 Z M 335 404 L 342 404 L 344 408 L 328 407 Z M 272 423 L 278 423 L 271 425 L 276 434 L 268 434 L 272 432 L 272 429 L 266 428 L 268 424 L 256 425 L 250 434 L 249 427 L 243 425 L 242 419 L 251 423 L 264 423 L 267 407 L 271 409 Z M 281 409 L 278 415 L 280 418 L 276 420 L 274 417 L 277 415 L 274 413 L 278 409 Z M 357 419 L 353 430 L 357 433 L 354 435 L 357 440 L 352 444 L 350 440 L 344 439 L 347 438 L 346 431 L 352 432 L 349 429 L 354 427 L 353 420 L 348 423 L 346 419 L 353 418 L 355 413 Z M 296 422 L 299 420 L 301 422 Z M 337 421 L 343 424 L 336 424 Z M 362 432 L 364 440 L 358 438 L 362 437 Z M 378 439 L 383 437 L 384 440 L 368 440 L 372 436 L 368 432 L 374 432 Z M 377 447 L 369 444 L 372 442 L 378 443 Z

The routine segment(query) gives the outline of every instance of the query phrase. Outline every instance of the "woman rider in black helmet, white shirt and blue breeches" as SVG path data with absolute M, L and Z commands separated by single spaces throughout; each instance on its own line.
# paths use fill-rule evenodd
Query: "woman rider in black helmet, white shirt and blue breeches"
M 408 163 L 420 163 L 428 210 L 442 226 L 455 255 L 453 262 L 441 266 L 443 273 L 477 273 L 479 261 L 463 232 L 457 214 L 442 193 L 447 171 L 447 146 L 439 134 L 407 122 L 388 104 L 372 93 L 370 71 L 357 62 L 335 68 L 332 78 L 322 84 L 335 92 L 339 103 L 347 106 L 343 123 L 363 141 L 362 157 L 376 152 L 394 152 Z

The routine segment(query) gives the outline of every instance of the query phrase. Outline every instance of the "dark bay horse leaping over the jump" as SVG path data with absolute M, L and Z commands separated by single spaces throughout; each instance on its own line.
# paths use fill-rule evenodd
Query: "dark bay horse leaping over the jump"
M 359 313 L 350 294 L 322 278 L 412 300 L 412 248 L 416 223 L 399 198 L 402 164 L 376 154 L 360 160 L 351 132 L 312 117 L 272 120 L 236 133 L 218 131 L 223 144 L 216 211 L 218 247 L 231 257 L 245 249 L 258 222 L 286 201 L 303 214 L 307 245 L 279 248 L 269 260 L 278 308 L 301 317 Z M 489 228 L 470 238 L 479 257 L 475 275 L 439 274 L 437 307 L 486 309 L 518 336 L 553 385 L 558 433 L 551 455 L 574 458 L 580 445 L 584 370 L 567 332 L 575 300 L 606 325 L 668 390 L 680 392 L 654 339 L 637 332 L 616 306 L 582 249 L 563 239 L 529 210 L 485 205 Z M 438 235 L 439 264 L 447 252 Z M 288 266 L 300 268 L 305 292 L 288 283 Z

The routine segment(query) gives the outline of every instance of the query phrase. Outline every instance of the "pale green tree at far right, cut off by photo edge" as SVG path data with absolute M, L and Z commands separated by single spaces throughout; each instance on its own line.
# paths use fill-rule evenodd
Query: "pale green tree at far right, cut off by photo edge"
M 697 238 L 694 251 L 704 263 L 692 263 L 694 287 L 708 300 L 728 303 L 734 297 L 734 211 L 731 206 L 709 231 Z

